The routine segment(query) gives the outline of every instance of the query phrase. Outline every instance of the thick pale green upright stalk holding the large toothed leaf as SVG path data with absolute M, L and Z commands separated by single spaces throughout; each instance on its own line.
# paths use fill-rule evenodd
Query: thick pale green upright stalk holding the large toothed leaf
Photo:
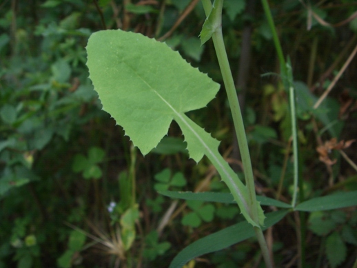
M 205 14 L 208 17 L 212 10 L 212 3 L 210 0 L 202 0 L 203 8 L 205 9 Z M 216 3 L 216 2 L 215 2 Z M 217 5 L 223 5 L 223 1 L 218 1 Z M 216 7 L 218 8 L 218 7 Z M 222 8 L 222 7 L 219 7 Z M 221 14 L 219 18 L 219 22 L 221 25 Z M 228 101 L 230 103 L 230 108 L 232 112 L 232 118 L 234 122 L 234 129 L 236 130 L 236 135 L 238 139 L 239 150 L 241 152 L 243 169 L 245 174 L 245 181 L 248 190 L 248 206 L 249 212 L 252 219 L 259 223 L 258 220 L 258 209 L 256 203 L 256 192 L 254 187 L 254 176 L 252 163 L 250 161 L 249 147 L 247 143 L 247 136 L 245 134 L 245 128 L 243 123 L 243 117 L 241 114 L 241 107 L 238 102 L 238 96 L 236 94 L 236 87 L 234 85 L 234 80 L 232 76 L 232 72 L 230 69 L 230 63 L 228 61 L 227 52 L 225 51 L 225 44 L 223 41 L 222 27 L 218 27 L 214 33 L 212 34 L 212 40 L 214 43 L 214 48 L 216 50 L 217 59 L 219 66 L 221 68 L 221 73 L 223 76 L 223 82 L 225 84 L 225 90 L 227 92 Z M 258 243 L 261 246 L 263 258 L 265 260 L 265 265 L 267 267 L 272 267 L 272 260 L 269 256 L 269 249 L 267 247 L 267 243 L 265 242 L 265 238 L 263 236 L 263 231 L 254 227 L 254 231 L 256 233 L 256 237 L 258 238 Z

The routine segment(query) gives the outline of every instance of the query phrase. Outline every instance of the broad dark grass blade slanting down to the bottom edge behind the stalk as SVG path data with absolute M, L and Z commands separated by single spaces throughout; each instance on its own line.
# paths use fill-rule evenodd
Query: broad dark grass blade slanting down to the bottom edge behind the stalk
M 287 214 L 287 210 L 282 210 L 279 212 L 272 212 L 267 214 L 265 220 L 265 227 L 262 229 L 267 229 L 279 220 L 284 218 Z M 247 238 L 254 236 L 254 229 L 252 225 L 243 221 L 231 227 L 227 227 L 221 231 L 217 231 L 214 234 L 205 236 L 191 245 L 185 247 L 170 263 L 170 268 L 181 268 L 185 263 L 189 262 L 193 258 L 202 256 L 210 252 L 218 251 L 230 247 L 236 243 L 239 243 Z

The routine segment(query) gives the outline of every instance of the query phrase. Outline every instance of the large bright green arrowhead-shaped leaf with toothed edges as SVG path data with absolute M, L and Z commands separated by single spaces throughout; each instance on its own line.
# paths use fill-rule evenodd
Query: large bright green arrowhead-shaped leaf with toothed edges
M 185 112 L 205 107 L 219 85 L 181 58 L 165 43 L 142 34 L 105 30 L 88 41 L 88 68 L 103 109 L 123 126 L 145 155 L 167 134 L 172 120 L 181 127 L 194 161 L 206 155 L 234 195 L 252 225 L 247 188 L 218 152 L 219 142 L 196 125 Z

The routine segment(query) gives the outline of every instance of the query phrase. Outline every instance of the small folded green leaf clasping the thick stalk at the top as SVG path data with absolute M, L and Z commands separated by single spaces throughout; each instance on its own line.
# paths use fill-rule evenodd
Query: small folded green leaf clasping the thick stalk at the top
M 212 34 L 214 34 L 218 28 L 221 28 L 222 8 L 223 0 L 214 0 L 212 10 L 202 26 L 200 34 L 201 45 L 210 40 Z

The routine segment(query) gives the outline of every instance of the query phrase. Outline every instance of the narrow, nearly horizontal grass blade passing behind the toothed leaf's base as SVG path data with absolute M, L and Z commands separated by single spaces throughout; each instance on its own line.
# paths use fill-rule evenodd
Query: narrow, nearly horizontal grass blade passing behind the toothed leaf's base
M 236 203 L 232 194 L 216 193 L 216 192 L 203 192 L 203 193 L 193 193 L 193 192 L 174 192 L 174 191 L 159 191 L 159 194 L 163 196 L 168 196 L 171 198 L 180 198 L 185 200 L 202 200 L 206 202 L 217 202 L 217 203 Z M 292 206 L 283 203 L 279 200 L 274 200 L 266 196 L 256 196 L 256 200 L 261 203 L 261 205 L 291 208 Z

